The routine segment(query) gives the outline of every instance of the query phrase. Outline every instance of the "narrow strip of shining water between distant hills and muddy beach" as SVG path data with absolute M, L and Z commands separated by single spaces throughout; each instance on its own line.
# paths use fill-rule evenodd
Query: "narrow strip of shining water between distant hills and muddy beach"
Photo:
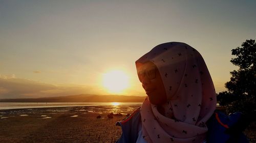
M 72 106 L 126 106 L 141 105 L 136 102 L 0 102 L 1 109 L 72 107 Z

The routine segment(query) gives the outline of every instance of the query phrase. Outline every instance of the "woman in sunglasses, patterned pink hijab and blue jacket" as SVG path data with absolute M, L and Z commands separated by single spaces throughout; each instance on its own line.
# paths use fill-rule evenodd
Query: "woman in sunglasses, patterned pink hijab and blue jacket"
M 136 68 L 147 98 L 117 123 L 122 127 L 117 142 L 231 141 L 230 135 L 219 134 L 225 130 L 215 127 L 220 119 L 211 119 L 216 93 L 197 50 L 180 42 L 160 44 L 137 60 Z

